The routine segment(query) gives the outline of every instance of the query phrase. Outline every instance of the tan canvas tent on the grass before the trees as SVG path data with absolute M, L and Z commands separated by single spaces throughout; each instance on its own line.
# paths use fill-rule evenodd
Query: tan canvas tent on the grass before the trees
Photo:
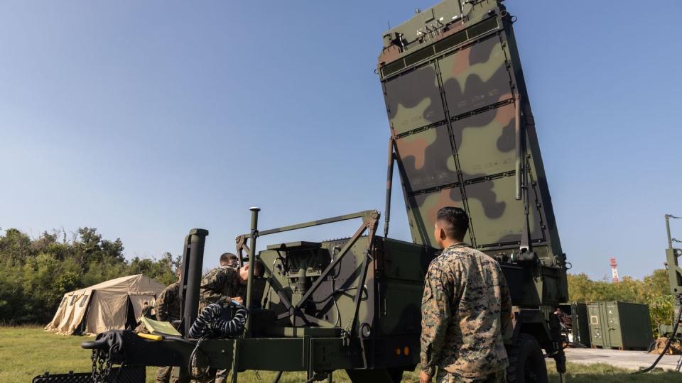
M 145 302 L 154 304 L 166 286 L 143 274 L 110 279 L 64 294 L 47 331 L 97 334 L 126 328 L 139 318 Z

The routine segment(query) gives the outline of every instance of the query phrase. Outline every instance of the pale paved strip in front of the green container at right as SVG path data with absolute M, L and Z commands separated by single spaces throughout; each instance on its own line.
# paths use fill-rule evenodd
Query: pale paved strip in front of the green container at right
M 644 351 L 604 350 L 601 348 L 567 348 L 565 349 L 568 362 L 590 365 L 592 363 L 606 363 L 616 367 L 639 370 L 639 367 L 649 367 L 658 357 Z M 675 370 L 680 355 L 664 355 L 656 367 Z

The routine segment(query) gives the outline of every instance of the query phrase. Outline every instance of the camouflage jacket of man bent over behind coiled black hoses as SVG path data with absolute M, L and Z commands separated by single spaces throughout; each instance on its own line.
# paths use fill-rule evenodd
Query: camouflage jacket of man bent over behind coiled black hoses
M 213 303 L 226 304 L 234 297 L 244 299 L 246 287 L 239 281 L 239 269 L 217 267 L 201 279 L 199 298 L 201 307 Z

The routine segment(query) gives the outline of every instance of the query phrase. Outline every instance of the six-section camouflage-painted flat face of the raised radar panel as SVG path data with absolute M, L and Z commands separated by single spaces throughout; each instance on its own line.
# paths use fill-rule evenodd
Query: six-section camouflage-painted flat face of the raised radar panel
M 385 83 L 419 243 L 434 245 L 429 224 L 443 206 L 467 210 L 475 245 L 521 238 L 524 202 L 514 196 L 516 108 L 505 57 L 495 35 L 444 57 L 438 67 L 426 65 Z M 484 107 L 489 109 L 471 114 Z M 540 212 L 534 209 L 530 218 L 531 238 L 543 240 Z

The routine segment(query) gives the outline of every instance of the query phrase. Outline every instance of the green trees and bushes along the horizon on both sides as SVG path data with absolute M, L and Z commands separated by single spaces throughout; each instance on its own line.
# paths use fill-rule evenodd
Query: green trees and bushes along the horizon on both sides
M 0 323 L 48 323 L 66 292 L 108 279 L 145 274 L 163 284 L 175 281 L 180 256 L 126 260 L 121 240 L 107 240 L 94 228 L 44 232 L 31 238 L 16 228 L 0 235 Z M 570 301 L 629 301 L 649 305 L 651 326 L 671 323 L 673 296 L 666 270 L 618 283 L 568 275 Z

